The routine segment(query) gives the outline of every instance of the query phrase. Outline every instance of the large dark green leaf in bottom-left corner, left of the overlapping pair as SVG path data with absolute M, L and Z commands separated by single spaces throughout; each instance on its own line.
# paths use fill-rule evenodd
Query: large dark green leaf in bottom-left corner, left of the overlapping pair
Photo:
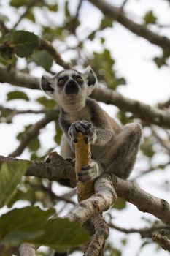
M 44 233 L 47 219 L 55 213 L 53 208 L 42 211 L 39 207 L 27 206 L 13 209 L 0 217 L 0 239 L 4 244 L 16 244 L 35 239 Z

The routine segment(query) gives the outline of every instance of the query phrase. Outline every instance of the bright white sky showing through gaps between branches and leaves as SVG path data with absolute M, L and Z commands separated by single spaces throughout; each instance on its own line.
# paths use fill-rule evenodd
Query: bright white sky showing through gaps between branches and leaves
M 112 4 L 119 5 L 120 2 L 118 0 L 110 0 Z M 75 1 L 74 1 L 75 3 Z M 5 1 L 4 1 L 5 4 Z M 73 8 L 74 5 L 71 6 Z M 154 10 L 155 14 L 158 15 L 159 23 L 161 24 L 170 24 L 170 7 L 168 1 L 162 0 L 129 0 L 128 4 L 125 6 L 125 10 L 128 12 L 128 16 L 130 18 L 134 18 L 136 22 L 140 22 L 142 16 L 148 10 Z M 4 10 L 4 12 L 8 12 L 8 10 Z M 87 17 L 88 15 L 88 17 Z M 82 27 L 80 31 L 82 33 L 82 37 L 84 34 L 87 34 L 92 26 L 98 25 L 98 18 L 101 17 L 101 14 L 94 8 L 91 4 L 88 4 L 88 1 L 85 1 L 83 4 L 83 8 L 81 11 L 81 20 Z M 50 17 L 52 20 L 53 16 Z M 42 17 L 39 15 L 39 19 Z M 59 17 L 55 17 L 55 19 L 60 19 Z M 17 20 L 15 15 L 13 20 Z M 43 20 L 43 22 L 45 22 Z M 29 31 L 38 32 L 39 29 L 32 26 L 27 26 Z M 18 29 L 22 29 L 20 26 Z M 159 31 L 159 30 L 158 30 Z M 170 37 L 170 29 L 163 29 L 163 34 L 166 34 L 167 37 Z M 99 34 L 98 34 L 99 36 Z M 159 56 L 161 54 L 161 49 L 155 45 L 151 45 L 147 40 L 137 37 L 135 34 L 132 34 L 130 31 L 125 29 L 118 23 L 114 23 L 114 29 L 107 29 L 104 31 L 104 36 L 106 37 L 106 46 L 112 51 L 112 56 L 116 59 L 115 69 L 120 76 L 125 77 L 127 81 L 127 86 L 120 86 L 118 91 L 120 91 L 124 96 L 131 97 L 132 99 L 139 99 L 142 102 L 148 103 L 150 105 L 155 105 L 157 102 L 163 102 L 169 99 L 170 96 L 170 72 L 169 67 L 162 67 L 158 69 L 152 58 L 155 56 Z M 100 46 L 98 45 L 98 41 L 95 42 L 87 42 L 87 49 L 92 51 L 100 50 Z M 67 58 L 66 55 L 63 55 L 64 58 Z M 22 64 L 22 60 L 20 64 Z M 57 70 L 58 67 L 56 65 L 53 66 L 53 69 Z M 32 71 L 32 75 L 36 75 L 39 78 L 43 73 L 43 69 L 36 68 Z M 16 87 L 17 88 L 17 87 Z M 12 87 L 12 89 L 15 89 Z M 1 93 L 0 93 L 0 104 L 5 102 L 5 95 L 7 91 L 10 91 L 11 87 L 5 84 L 1 85 Z M 35 99 L 36 97 L 44 95 L 41 91 L 31 91 L 25 89 L 31 99 Z M 7 105 L 12 108 L 18 109 L 35 109 L 39 108 L 39 105 L 34 104 L 34 102 L 28 103 L 23 102 L 22 100 L 8 102 Z M 102 104 L 105 110 L 109 111 L 112 115 L 115 113 L 116 108 Z M 30 124 L 31 122 L 34 124 L 41 116 L 37 118 L 35 115 L 28 115 L 27 118 L 23 118 L 23 116 L 18 116 L 14 119 L 14 124 L 1 124 L 0 125 L 0 154 L 7 155 L 11 151 L 13 151 L 16 146 L 18 146 L 18 141 L 15 140 L 15 135 L 18 134 L 19 131 L 23 129 L 23 126 L 26 124 Z M 42 135 L 40 135 L 42 141 L 42 151 L 45 151 L 46 148 L 50 148 L 55 146 L 53 141 L 53 124 L 49 124 L 42 131 Z M 28 158 L 28 152 L 24 151 L 20 156 L 22 158 Z M 166 161 L 163 154 L 158 156 L 158 160 Z M 147 167 L 146 162 L 137 162 L 136 167 L 134 168 L 134 172 L 138 169 L 142 170 L 142 168 Z M 169 179 L 169 168 L 163 173 L 161 171 L 155 172 L 154 175 L 148 175 L 145 178 L 142 178 L 139 181 L 140 186 L 143 189 L 146 189 L 147 192 L 152 193 L 155 196 L 164 198 L 169 200 L 168 193 L 165 193 L 159 184 L 161 184 L 161 180 Z M 56 184 L 54 185 L 56 187 Z M 150 217 L 150 214 L 143 214 L 144 217 Z M 128 210 L 125 211 L 114 211 L 115 224 L 120 225 L 121 227 L 144 227 L 146 222 L 141 220 L 141 214 L 136 209 L 135 206 L 128 204 Z M 118 241 L 120 238 L 124 238 L 125 236 L 122 233 L 117 233 L 115 231 L 112 232 L 112 236 L 109 237 L 110 241 L 113 241 L 115 246 L 120 247 Z M 135 242 L 134 242 L 135 241 Z M 128 245 L 123 249 L 123 256 L 136 256 L 140 245 L 139 236 L 131 235 L 128 239 Z M 79 256 L 80 253 L 74 253 L 74 255 Z M 155 246 L 145 246 L 140 253 L 140 256 L 155 256 Z M 156 252 L 158 256 L 168 256 L 169 253 L 163 250 Z

